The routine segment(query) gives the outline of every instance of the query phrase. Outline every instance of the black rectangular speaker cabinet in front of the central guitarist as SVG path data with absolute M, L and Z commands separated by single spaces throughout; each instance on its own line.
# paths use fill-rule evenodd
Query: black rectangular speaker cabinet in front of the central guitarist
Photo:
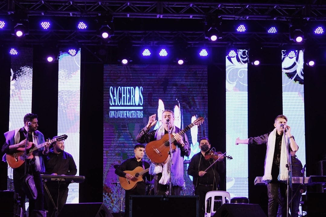
M 199 196 L 131 195 L 129 217 L 198 217 Z

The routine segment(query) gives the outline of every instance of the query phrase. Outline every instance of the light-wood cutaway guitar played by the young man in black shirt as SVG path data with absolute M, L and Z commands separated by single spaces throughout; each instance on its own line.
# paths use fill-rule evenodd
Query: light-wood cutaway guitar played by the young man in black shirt
M 144 170 L 142 167 L 136 167 L 134 170 L 126 170 L 125 173 L 129 173 L 134 178 L 127 179 L 125 177 L 119 176 L 119 182 L 123 189 L 130 190 L 134 189 L 138 182 L 141 182 L 143 180 L 142 176 L 149 171 L 149 168 Z

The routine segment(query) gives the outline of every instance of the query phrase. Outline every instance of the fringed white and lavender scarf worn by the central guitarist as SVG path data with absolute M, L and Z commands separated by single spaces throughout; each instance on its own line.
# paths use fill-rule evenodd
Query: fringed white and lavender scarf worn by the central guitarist
M 165 129 L 163 125 L 161 125 L 155 133 L 156 140 L 160 140 L 165 133 Z M 172 127 L 170 133 L 175 133 L 175 126 Z M 176 147 L 175 150 L 172 151 L 172 160 L 173 164 L 171 165 L 171 184 L 172 186 L 184 185 L 184 171 L 183 171 L 183 157 L 181 156 L 181 150 L 179 147 Z M 168 162 L 166 164 L 151 164 L 149 173 L 151 175 L 155 175 L 157 173 L 162 173 L 162 178 L 158 181 L 160 184 L 168 184 L 170 183 L 170 156 L 168 156 Z

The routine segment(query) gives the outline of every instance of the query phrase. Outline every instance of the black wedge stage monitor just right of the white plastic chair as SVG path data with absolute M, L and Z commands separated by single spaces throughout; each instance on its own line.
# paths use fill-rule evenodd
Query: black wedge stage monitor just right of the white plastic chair
M 213 217 L 266 217 L 258 204 L 225 203 Z

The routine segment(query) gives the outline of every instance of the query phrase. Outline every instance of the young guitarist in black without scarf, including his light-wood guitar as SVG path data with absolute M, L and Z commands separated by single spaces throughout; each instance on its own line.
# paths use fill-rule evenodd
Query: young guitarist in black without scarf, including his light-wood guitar
M 153 176 L 149 175 L 148 168 L 150 163 L 143 160 L 145 154 L 145 146 L 136 144 L 134 148 L 135 156 L 126 159 L 122 164 L 115 169 L 115 174 L 119 176 L 121 186 L 126 190 L 125 194 L 125 217 L 129 216 L 129 196 L 130 195 L 145 195 L 147 180 L 152 181 Z M 132 171 L 134 170 L 134 171 Z M 145 174 L 145 177 L 142 176 Z

